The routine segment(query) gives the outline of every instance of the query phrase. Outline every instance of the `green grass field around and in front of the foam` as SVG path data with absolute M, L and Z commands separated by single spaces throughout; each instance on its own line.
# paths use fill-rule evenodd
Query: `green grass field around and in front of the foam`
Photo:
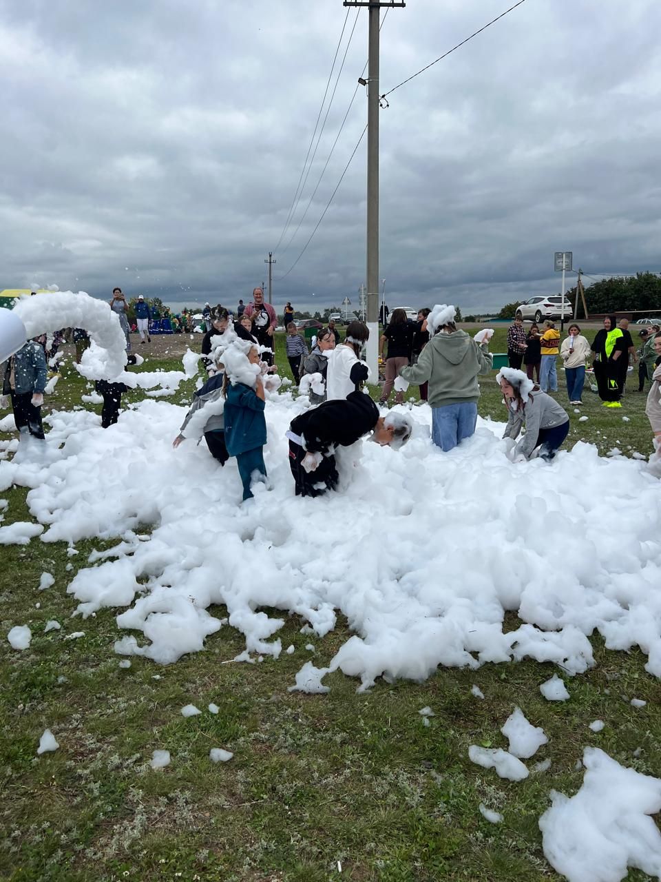
M 504 333 L 496 332 L 493 351 L 503 351 Z M 173 359 L 161 365 L 178 367 Z M 494 377 L 480 385 L 480 415 L 503 420 Z M 192 388 L 182 384 L 170 400 L 188 401 Z M 78 407 L 82 392 L 85 381 L 65 368 L 44 409 Z M 558 399 L 565 400 L 562 392 Z M 649 452 L 644 396 L 628 393 L 617 413 L 590 392 L 583 400 L 588 421 L 577 422 L 569 409 L 570 441 L 592 441 L 600 452 Z M 25 489 L 3 497 L 4 524 L 30 519 Z M 538 691 L 554 667 L 531 661 L 441 669 L 422 684 L 379 681 L 360 695 L 352 678 L 336 673 L 325 681 L 329 695 L 290 693 L 311 639 L 294 616 L 279 636 L 296 652 L 277 662 L 232 663 L 244 643 L 223 628 L 204 652 L 173 666 L 137 657 L 120 668 L 115 612 L 71 621 L 75 602 L 65 594 L 89 554 L 112 544 L 78 542 L 72 557 L 65 543 L 2 547 L 4 880 L 558 880 L 541 850 L 538 817 L 550 789 L 573 794 L 580 786 L 583 747 L 598 745 L 623 765 L 659 774 L 661 687 L 645 673 L 642 654 L 605 651 L 598 638 L 596 667 L 568 682 L 571 699 L 562 704 Z M 56 584 L 39 593 L 44 571 Z M 48 619 L 63 630 L 44 634 Z M 512 616 L 506 629 L 516 622 Z M 33 630 L 24 652 L 4 640 L 13 624 Z M 78 630 L 84 636 L 64 639 Z M 313 637 L 315 663 L 328 662 L 349 636 L 341 622 L 323 640 Z M 472 696 L 472 684 L 484 700 Z M 635 709 L 633 697 L 647 706 Z M 203 714 L 185 719 L 180 709 L 190 702 Z M 219 714 L 206 710 L 210 702 Z M 515 704 L 545 729 L 549 744 L 535 759 L 551 766 L 510 783 L 474 766 L 467 749 L 506 746 L 500 727 Z M 423 706 L 434 710 L 428 727 L 418 713 Z M 587 728 L 595 719 L 606 723 L 598 734 Z M 37 758 L 47 727 L 61 746 Z M 234 751 L 234 759 L 212 764 L 212 747 Z M 172 763 L 153 771 L 157 748 L 167 748 Z M 501 811 L 503 822 L 489 824 L 479 803 Z M 630 882 L 648 878 L 628 875 Z

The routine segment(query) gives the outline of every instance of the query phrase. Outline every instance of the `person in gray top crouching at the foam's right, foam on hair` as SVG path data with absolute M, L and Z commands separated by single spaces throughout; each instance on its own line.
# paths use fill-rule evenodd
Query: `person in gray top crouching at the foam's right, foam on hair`
M 523 370 L 501 368 L 496 376 L 508 408 L 504 438 L 516 438 L 525 426 L 525 435 L 516 445 L 512 459 L 530 460 L 539 447 L 542 460 L 553 460 L 567 437 L 569 417 L 556 400 L 542 392 Z

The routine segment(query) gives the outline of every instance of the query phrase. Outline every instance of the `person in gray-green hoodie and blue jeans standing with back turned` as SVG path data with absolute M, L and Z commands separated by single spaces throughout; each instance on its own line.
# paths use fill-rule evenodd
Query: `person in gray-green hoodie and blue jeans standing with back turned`
M 475 432 L 478 377 L 488 374 L 494 366 L 488 343 L 478 343 L 465 331 L 458 331 L 455 315 L 454 306 L 434 306 L 427 316 L 431 340 L 416 364 L 399 370 L 399 376 L 408 383 L 421 385 L 428 381 L 432 440 L 446 452 Z

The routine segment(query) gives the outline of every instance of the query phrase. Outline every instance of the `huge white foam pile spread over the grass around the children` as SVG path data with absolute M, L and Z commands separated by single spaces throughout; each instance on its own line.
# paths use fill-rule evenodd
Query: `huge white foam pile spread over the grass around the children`
M 107 304 L 93 303 L 108 324 Z M 197 356 L 185 361 L 190 372 Z M 304 691 L 325 689 L 334 669 L 367 689 L 381 675 L 420 680 L 439 665 L 477 669 L 525 657 L 571 676 L 594 664 L 595 630 L 607 647 L 641 647 L 648 671 L 661 676 L 661 501 L 645 463 L 599 458 L 579 442 L 550 465 L 515 466 L 501 425 L 481 420 L 474 437 L 444 454 L 431 445 L 422 406 L 410 412 L 408 445 L 364 444 L 358 467 L 358 452 L 343 451 L 345 490 L 301 499 L 285 432 L 308 406 L 267 392 L 272 489 L 258 486 L 245 505 L 235 460 L 219 467 L 204 442 L 172 448 L 186 407 L 143 400 L 108 430 L 84 410 L 55 412 L 45 444 L 0 461 L 0 492 L 31 488 L 27 505 L 38 521 L 0 527 L 0 543 L 41 531 L 41 542 L 70 546 L 122 539 L 67 590 L 84 617 L 125 608 L 117 624 L 130 633 L 117 651 L 156 662 L 202 650 L 227 608 L 228 624 L 245 635 L 245 661 L 279 656 L 289 614 L 317 638 L 343 614 L 354 636 L 323 659 L 326 667 L 306 664 L 294 687 Z M 137 541 L 144 524 L 152 533 Z M 557 549 L 553 566 L 549 549 Z M 503 632 L 508 610 L 522 624 Z M 323 642 L 316 651 L 323 657 Z

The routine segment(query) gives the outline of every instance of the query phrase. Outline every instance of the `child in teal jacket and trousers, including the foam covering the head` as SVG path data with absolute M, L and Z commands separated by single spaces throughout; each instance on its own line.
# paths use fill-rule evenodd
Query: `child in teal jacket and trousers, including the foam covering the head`
M 244 502 L 253 496 L 251 484 L 266 480 L 266 403 L 259 363 L 259 351 L 248 340 L 238 340 L 223 351 L 225 444 L 229 455 L 236 457 Z

